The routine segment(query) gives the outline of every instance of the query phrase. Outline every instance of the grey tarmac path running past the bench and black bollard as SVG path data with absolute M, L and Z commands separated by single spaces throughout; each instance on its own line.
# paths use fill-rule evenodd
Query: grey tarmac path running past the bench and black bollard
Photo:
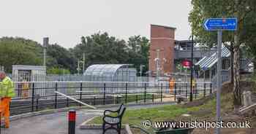
M 162 104 L 170 105 L 170 104 Z M 128 109 L 143 109 L 151 108 L 162 105 L 140 105 L 140 106 L 128 106 Z M 116 109 L 116 108 L 111 108 Z M 102 112 L 95 111 L 77 111 L 76 119 L 76 134 L 97 134 L 101 133 L 101 130 L 80 130 L 79 125 L 85 122 L 87 119 L 102 115 Z M 1 134 L 67 134 L 68 122 L 67 112 L 60 112 L 55 114 L 45 114 L 36 117 L 28 117 L 23 119 L 14 120 L 10 123 L 10 128 L 1 129 Z

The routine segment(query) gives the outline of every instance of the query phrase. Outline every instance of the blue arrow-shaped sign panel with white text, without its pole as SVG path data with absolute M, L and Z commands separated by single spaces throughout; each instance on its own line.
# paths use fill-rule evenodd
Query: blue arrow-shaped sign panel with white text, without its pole
M 203 23 L 206 31 L 236 31 L 237 18 L 209 18 Z

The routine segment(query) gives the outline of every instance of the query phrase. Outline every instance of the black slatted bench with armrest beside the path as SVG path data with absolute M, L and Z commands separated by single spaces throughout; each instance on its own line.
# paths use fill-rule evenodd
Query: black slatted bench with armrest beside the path
M 121 119 L 124 115 L 126 107 L 122 103 L 121 106 L 119 106 L 119 109 L 116 111 L 111 111 L 111 110 L 105 110 L 104 111 L 104 116 L 103 116 L 103 134 L 110 129 L 116 130 L 118 134 L 121 133 Z M 113 117 L 110 115 L 107 115 L 108 113 L 117 113 L 117 116 Z M 106 125 L 109 125 L 110 127 L 106 127 Z

